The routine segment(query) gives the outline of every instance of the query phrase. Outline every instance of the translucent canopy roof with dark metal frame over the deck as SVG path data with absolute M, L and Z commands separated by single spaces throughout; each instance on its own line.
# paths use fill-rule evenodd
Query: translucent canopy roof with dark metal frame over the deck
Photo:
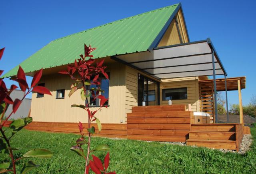
M 209 38 L 154 48 L 152 51 L 112 56 L 112 59 L 160 79 L 211 76 L 213 75 L 212 52 L 216 75 L 227 75 Z

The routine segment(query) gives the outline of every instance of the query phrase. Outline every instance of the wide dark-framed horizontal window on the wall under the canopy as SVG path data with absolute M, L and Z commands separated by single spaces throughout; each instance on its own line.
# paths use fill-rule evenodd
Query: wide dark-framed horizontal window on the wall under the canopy
M 187 88 L 173 88 L 162 90 L 163 100 L 188 99 Z

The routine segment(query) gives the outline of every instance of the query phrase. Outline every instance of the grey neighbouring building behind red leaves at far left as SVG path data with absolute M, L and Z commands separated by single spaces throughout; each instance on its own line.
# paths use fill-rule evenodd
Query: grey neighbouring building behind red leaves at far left
M 10 97 L 12 99 L 18 98 L 21 100 L 23 96 L 24 96 L 24 92 L 22 90 L 13 90 L 12 93 L 10 94 Z M 10 119 L 25 118 L 29 116 L 30 108 L 31 108 L 31 98 L 24 98 L 17 112 L 13 113 L 12 116 L 10 116 Z M 11 112 L 12 112 L 12 104 L 6 110 L 5 115 L 8 116 L 10 115 Z

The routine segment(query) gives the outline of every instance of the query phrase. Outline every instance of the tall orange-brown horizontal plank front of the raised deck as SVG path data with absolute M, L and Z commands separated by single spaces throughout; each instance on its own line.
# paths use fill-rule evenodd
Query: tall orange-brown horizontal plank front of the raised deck
M 186 142 L 192 112 L 185 106 L 139 106 L 127 114 L 127 138 Z M 182 111 L 183 110 L 183 111 Z

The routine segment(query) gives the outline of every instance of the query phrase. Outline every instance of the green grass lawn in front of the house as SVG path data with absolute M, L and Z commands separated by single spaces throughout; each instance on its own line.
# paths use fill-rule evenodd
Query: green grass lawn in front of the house
M 251 131 L 254 141 L 251 150 L 244 155 L 224 154 L 207 148 L 97 137 L 92 139 L 92 148 L 99 144 L 108 144 L 109 170 L 117 173 L 256 173 L 256 128 Z M 14 151 L 16 157 L 33 148 L 46 148 L 54 154 L 49 159 L 32 159 L 40 166 L 31 173 L 82 174 L 84 160 L 70 150 L 77 138 L 78 135 L 74 134 L 21 130 L 14 136 L 11 144 L 20 149 Z M 103 161 L 106 152 L 98 151 L 93 154 Z M 0 163 L 8 161 L 8 156 L 0 154 Z M 18 164 L 19 171 L 24 161 Z

